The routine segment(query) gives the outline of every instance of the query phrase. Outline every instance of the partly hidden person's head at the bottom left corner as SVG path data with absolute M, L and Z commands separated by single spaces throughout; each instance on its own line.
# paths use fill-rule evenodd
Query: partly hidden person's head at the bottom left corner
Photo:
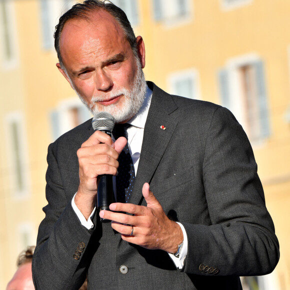
M 28 246 L 17 258 L 17 270 L 7 284 L 6 290 L 34 290 L 31 262 L 34 246 Z

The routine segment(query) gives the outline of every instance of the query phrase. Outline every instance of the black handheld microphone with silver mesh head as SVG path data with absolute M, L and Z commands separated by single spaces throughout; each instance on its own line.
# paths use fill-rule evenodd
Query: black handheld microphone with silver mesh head
M 91 124 L 94 130 L 99 130 L 112 136 L 115 120 L 111 114 L 99 112 L 92 118 Z M 99 210 L 109 210 L 109 205 L 115 201 L 112 177 L 110 174 L 100 175 L 97 186 L 97 208 Z M 101 218 L 100 221 L 109 222 L 110 220 Z

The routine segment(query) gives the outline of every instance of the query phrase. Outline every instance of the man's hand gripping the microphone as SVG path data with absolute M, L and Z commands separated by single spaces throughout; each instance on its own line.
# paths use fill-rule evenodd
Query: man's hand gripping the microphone
M 126 142 L 125 137 L 113 142 L 109 135 L 97 130 L 77 150 L 79 186 L 74 202 L 86 220 L 95 206 L 98 176 L 117 174 L 117 158 Z

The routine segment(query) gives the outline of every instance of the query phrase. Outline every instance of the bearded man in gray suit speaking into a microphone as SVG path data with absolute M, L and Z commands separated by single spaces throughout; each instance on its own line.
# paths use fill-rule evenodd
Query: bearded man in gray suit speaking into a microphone
M 131 124 L 136 176 L 126 202 L 98 212 L 99 177 L 122 174 L 127 140 L 88 120 L 49 145 L 36 288 L 77 289 L 87 274 L 88 289 L 240 289 L 239 275 L 271 272 L 278 241 L 232 114 L 146 84 L 143 39 L 111 3 L 74 5 L 54 37 L 56 65 L 81 100 Z

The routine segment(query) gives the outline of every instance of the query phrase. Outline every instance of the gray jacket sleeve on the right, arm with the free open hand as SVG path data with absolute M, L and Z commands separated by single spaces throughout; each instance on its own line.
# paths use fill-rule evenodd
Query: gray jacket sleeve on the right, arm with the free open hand
M 208 276 L 271 272 L 279 245 L 253 152 L 223 107 L 214 111 L 207 131 L 202 176 L 211 224 L 182 223 L 188 238 L 183 270 Z

